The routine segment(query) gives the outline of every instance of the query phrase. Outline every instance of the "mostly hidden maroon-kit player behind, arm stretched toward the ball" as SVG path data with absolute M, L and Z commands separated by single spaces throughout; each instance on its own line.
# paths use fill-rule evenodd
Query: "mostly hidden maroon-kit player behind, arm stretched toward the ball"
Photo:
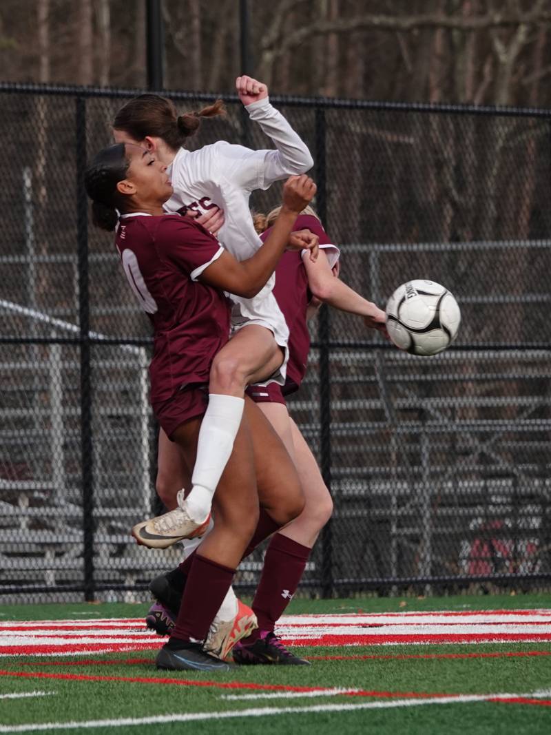
M 267 218 L 255 218 L 262 240 L 270 235 L 271 226 L 278 210 L 273 210 Z M 270 228 L 267 229 L 267 226 Z M 386 335 L 385 315 L 372 302 L 339 281 L 339 248 L 336 247 L 323 229 L 313 210 L 306 209 L 295 221 L 295 229 L 307 229 L 317 235 L 320 243 L 320 257 L 310 264 L 309 259 L 298 252 L 288 251 L 281 257 L 275 270 L 274 295 L 289 326 L 289 362 L 287 383 L 283 390 L 277 384 L 266 387 L 250 386 L 247 393 L 259 404 L 264 415 L 284 441 L 289 455 L 298 470 L 306 503 L 303 512 L 275 532 L 267 546 L 264 567 L 252 603 L 253 612 L 258 620 L 258 628 L 249 637 L 244 637 L 234 646 L 234 660 L 240 664 L 308 664 L 292 654 L 281 644 L 274 634 L 275 623 L 281 617 L 298 587 L 300 578 L 309 559 L 321 529 L 327 523 L 333 509 L 331 495 L 325 486 L 316 459 L 298 426 L 289 417 L 284 395 L 295 392 L 300 387 L 306 373 L 306 362 L 310 348 L 307 326 L 309 309 L 313 302 L 325 302 L 337 309 L 360 315 L 367 327 L 378 329 Z M 290 431 L 287 429 L 290 423 Z M 185 471 L 180 476 L 179 467 L 171 467 L 170 478 L 172 494 L 176 493 L 179 483 L 185 483 Z M 170 487 L 165 486 L 165 502 L 170 503 Z M 262 523 L 262 517 L 261 517 Z M 184 542 L 186 553 L 192 553 L 194 542 Z M 253 545 L 251 545 L 252 547 Z M 149 627 L 160 634 L 170 630 L 170 617 L 178 610 L 170 605 L 166 587 L 170 586 L 170 575 L 159 576 L 151 583 L 151 591 L 161 589 L 159 595 L 163 604 L 154 606 L 150 611 Z M 232 590 L 228 592 L 224 604 L 231 606 Z M 235 600 L 235 598 L 233 598 Z M 168 603 L 168 604 L 167 604 Z M 237 604 L 234 601 L 234 604 Z M 155 617 L 156 616 L 156 617 Z M 223 613 L 219 612 L 218 617 Z M 149 617 L 149 616 L 148 616 Z

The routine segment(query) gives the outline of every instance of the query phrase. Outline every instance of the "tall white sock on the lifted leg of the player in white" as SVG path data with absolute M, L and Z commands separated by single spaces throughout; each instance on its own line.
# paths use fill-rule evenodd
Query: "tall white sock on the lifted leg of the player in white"
M 192 490 L 186 498 L 190 516 L 197 523 L 210 512 L 212 496 L 234 448 L 244 406 L 245 400 L 234 395 L 209 395 L 197 442 Z

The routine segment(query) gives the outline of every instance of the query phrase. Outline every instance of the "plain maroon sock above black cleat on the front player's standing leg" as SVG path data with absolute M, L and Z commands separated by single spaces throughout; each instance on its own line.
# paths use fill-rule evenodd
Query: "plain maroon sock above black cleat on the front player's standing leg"
M 234 569 L 193 554 L 180 612 L 170 637 L 184 641 L 204 641 L 234 578 Z

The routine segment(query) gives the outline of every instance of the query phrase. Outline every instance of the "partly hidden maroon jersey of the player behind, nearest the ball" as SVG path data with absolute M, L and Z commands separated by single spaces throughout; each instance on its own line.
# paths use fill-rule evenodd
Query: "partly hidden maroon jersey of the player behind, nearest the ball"
M 331 266 L 339 257 L 339 249 L 331 243 L 322 223 L 313 215 L 299 215 L 293 226 L 294 230 L 308 229 L 320 238 L 320 248 L 326 249 Z M 271 227 L 261 234 L 266 240 Z M 298 390 L 306 373 L 308 353 L 310 350 L 310 333 L 306 323 L 306 309 L 311 300 L 308 288 L 308 276 L 303 265 L 303 256 L 309 251 L 286 251 L 275 269 L 275 286 L 273 295 L 283 312 L 289 327 L 289 362 L 287 363 L 287 382 L 284 393 L 287 395 Z

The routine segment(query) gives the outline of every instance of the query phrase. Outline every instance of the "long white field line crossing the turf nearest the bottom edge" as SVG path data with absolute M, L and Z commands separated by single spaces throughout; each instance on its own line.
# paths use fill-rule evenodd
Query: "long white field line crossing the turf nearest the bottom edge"
M 551 690 L 545 696 L 551 695 Z M 534 698 L 543 693 L 458 695 L 455 697 L 431 697 L 427 699 L 395 699 L 390 701 L 362 702 L 359 704 L 320 704 L 309 707 L 261 707 L 231 712 L 187 712 L 185 714 L 159 714 L 153 717 L 124 717 L 120 720 L 83 720 L 69 723 L 29 723 L 26 725 L 0 725 L 0 733 L 38 732 L 43 730 L 76 730 L 79 728 L 117 728 L 129 725 L 161 725 L 164 723 L 189 723 L 198 720 L 230 720 L 235 717 L 268 717 L 278 714 L 317 714 L 318 712 L 350 712 L 361 709 L 391 709 L 393 707 L 419 707 L 427 704 L 463 704 L 483 702 L 489 699 Z

